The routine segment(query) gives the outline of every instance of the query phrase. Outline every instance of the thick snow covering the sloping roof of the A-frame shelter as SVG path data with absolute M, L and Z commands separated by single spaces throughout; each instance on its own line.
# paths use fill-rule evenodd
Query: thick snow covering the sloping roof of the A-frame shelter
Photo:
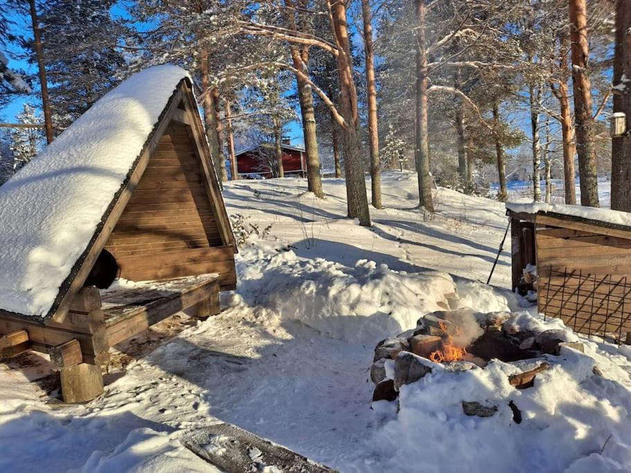
M 187 77 L 170 65 L 132 75 L 0 187 L 0 309 L 48 314 Z

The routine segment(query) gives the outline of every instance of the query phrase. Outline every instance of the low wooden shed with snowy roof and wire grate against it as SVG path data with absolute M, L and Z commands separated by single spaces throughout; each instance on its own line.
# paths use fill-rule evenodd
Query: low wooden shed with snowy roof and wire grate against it
M 506 204 L 513 289 L 587 335 L 631 341 L 631 214 L 562 204 Z M 536 265 L 534 287 L 524 281 Z

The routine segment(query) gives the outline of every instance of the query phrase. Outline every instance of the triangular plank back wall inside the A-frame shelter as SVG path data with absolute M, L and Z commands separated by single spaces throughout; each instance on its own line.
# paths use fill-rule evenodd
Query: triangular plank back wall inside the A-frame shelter
M 175 122 L 167 127 L 105 248 L 116 257 L 122 278 L 216 272 L 222 288 L 232 289 L 233 249 L 222 244 L 189 133 Z

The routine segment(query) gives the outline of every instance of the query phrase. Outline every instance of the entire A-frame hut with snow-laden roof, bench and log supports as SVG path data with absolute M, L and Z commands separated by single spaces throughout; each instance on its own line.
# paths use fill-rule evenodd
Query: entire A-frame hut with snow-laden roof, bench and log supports
M 177 66 L 136 73 L 0 187 L 0 356 L 48 352 L 67 402 L 103 391 L 110 346 L 235 288 L 192 88 Z M 136 283 L 99 291 L 112 256 Z

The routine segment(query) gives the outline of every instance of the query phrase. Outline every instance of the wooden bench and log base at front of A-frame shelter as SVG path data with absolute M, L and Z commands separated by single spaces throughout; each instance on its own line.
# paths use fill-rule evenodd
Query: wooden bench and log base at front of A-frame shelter
M 26 350 L 48 352 L 53 369 L 60 371 L 64 401 L 85 402 L 103 392 L 100 364 L 109 359 L 110 347 L 182 310 L 193 308 L 190 315 L 199 319 L 218 314 L 219 294 L 217 274 L 133 283 L 105 291 L 85 287 L 73 301 L 63 328 L 30 323 L 12 331 L 10 322 L 3 321 L 6 335 L 0 336 L 0 357 Z

